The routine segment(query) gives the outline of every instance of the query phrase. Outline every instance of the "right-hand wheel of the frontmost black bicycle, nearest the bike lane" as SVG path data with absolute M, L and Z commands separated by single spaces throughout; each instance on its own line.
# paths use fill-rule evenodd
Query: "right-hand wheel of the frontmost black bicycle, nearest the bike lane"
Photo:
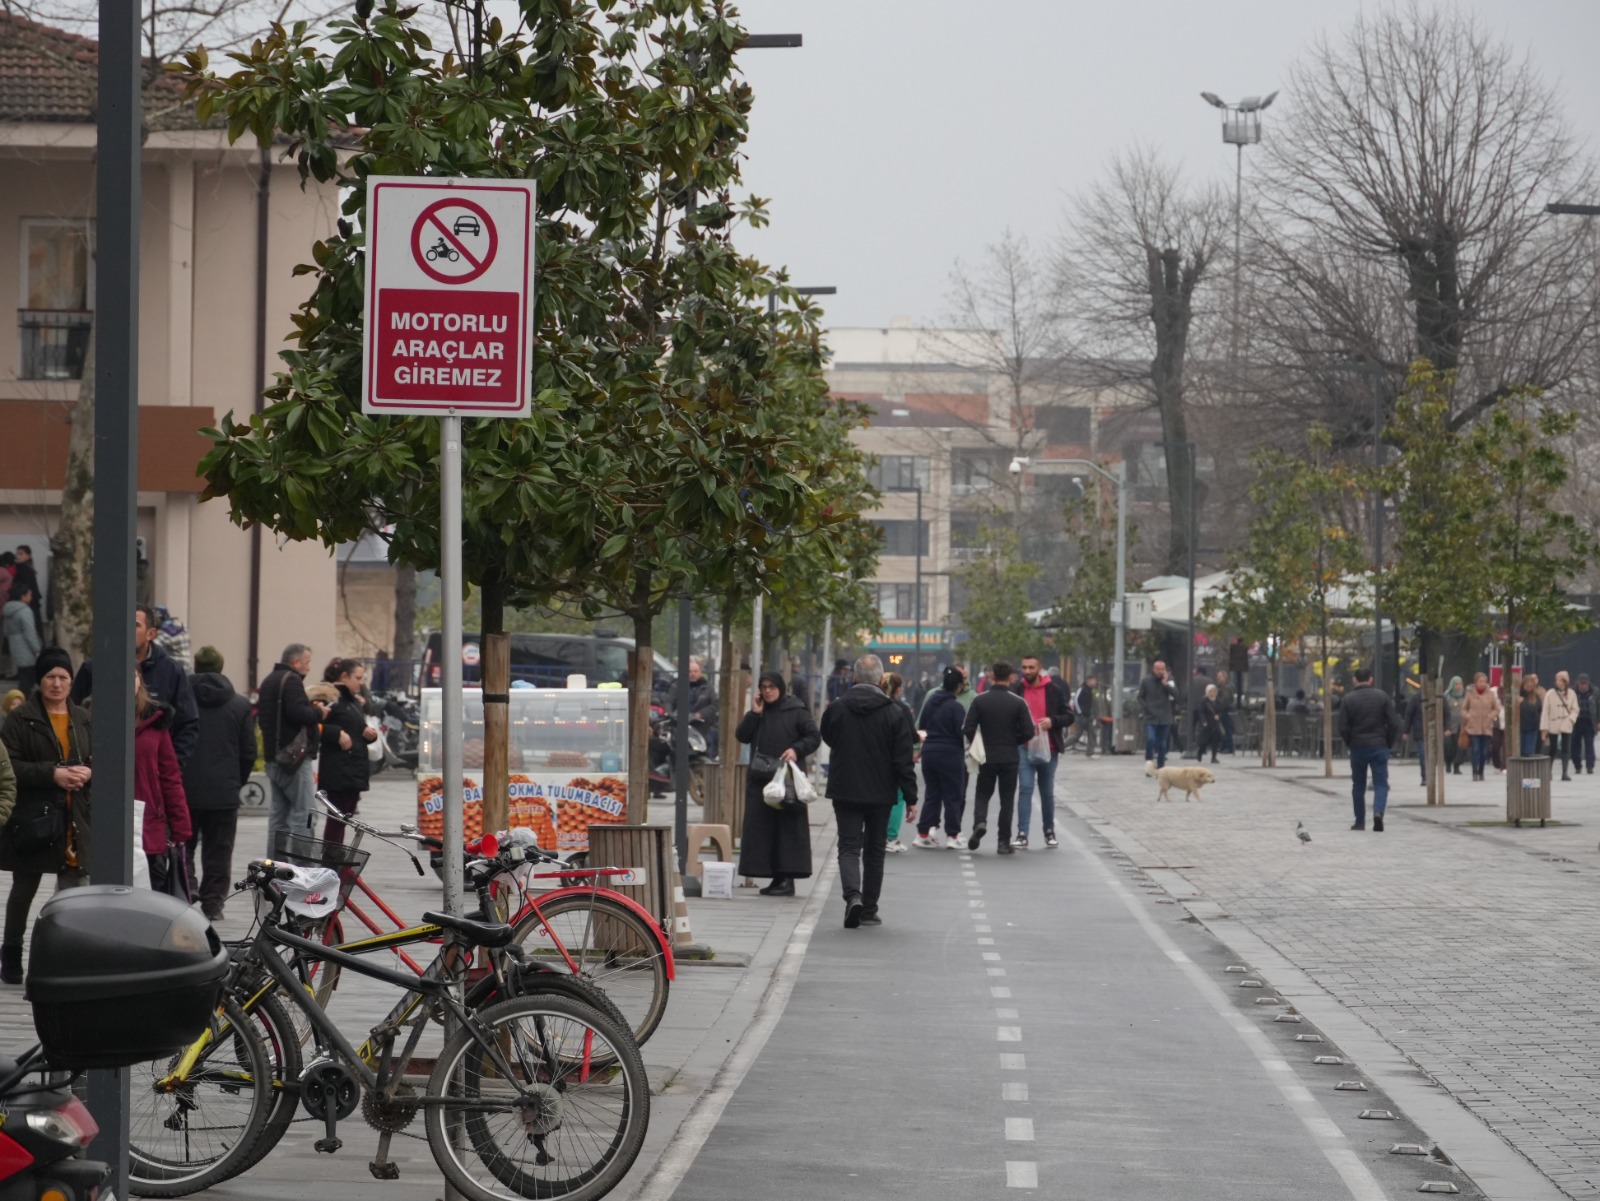
M 594 1065 L 595 1055 L 610 1060 Z M 509 1068 L 509 1071 L 507 1071 Z M 626 1030 L 562 996 L 477 1014 L 427 1083 L 427 1145 L 470 1201 L 610 1193 L 650 1126 L 650 1081 Z

